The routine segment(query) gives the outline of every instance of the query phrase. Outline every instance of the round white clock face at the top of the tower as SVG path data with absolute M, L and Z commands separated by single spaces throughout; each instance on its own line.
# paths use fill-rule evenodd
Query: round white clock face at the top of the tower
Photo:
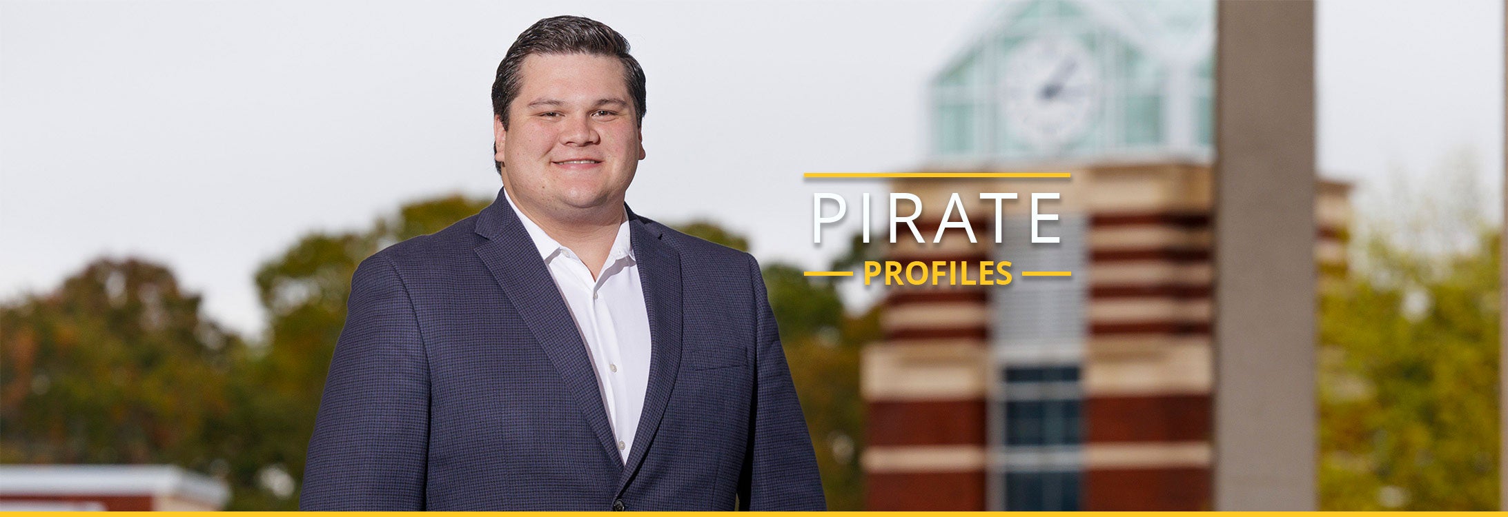
M 1056 151 L 1089 128 L 1099 106 L 1099 72 L 1089 50 L 1063 36 L 1039 36 L 1006 56 L 1000 81 L 1007 131 Z

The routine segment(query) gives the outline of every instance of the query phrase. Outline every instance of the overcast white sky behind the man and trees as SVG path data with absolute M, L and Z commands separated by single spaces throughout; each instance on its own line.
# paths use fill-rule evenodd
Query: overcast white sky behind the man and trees
M 840 247 L 810 243 L 801 173 L 921 163 L 924 83 L 991 6 L 0 2 L 0 298 L 139 255 L 261 330 L 252 274 L 299 235 L 496 194 L 492 74 L 556 14 L 618 29 L 647 71 L 636 211 L 712 219 L 762 261 L 819 268 Z M 1321 170 L 1365 194 L 1472 149 L 1497 202 L 1502 3 L 1318 9 Z

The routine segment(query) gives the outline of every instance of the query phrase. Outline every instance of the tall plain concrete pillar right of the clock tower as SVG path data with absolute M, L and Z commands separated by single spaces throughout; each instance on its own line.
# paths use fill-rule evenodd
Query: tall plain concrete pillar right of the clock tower
M 1315 509 L 1315 5 L 1217 12 L 1214 506 Z

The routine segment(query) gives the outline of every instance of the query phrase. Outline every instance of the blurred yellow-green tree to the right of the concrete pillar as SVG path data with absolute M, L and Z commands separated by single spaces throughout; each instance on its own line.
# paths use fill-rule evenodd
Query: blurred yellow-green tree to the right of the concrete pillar
M 1323 291 L 1323 509 L 1497 508 L 1497 235 L 1443 253 L 1374 235 Z

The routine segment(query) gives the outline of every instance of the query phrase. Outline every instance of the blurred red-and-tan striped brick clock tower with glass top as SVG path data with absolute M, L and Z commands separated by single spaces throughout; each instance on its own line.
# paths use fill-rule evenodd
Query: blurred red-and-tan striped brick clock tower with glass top
M 920 172 L 1072 178 L 896 181 L 973 199 L 980 238 L 888 259 L 1072 276 L 888 288 L 861 374 L 869 509 L 1211 509 L 1212 51 L 1212 0 L 1022 0 L 935 75 Z M 1019 196 L 1000 244 L 985 191 Z M 1057 244 L 1031 244 L 1033 191 L 1060 193 Z M 1347 191 L 1315 190 L 1321 271 L 1345 267 Z

